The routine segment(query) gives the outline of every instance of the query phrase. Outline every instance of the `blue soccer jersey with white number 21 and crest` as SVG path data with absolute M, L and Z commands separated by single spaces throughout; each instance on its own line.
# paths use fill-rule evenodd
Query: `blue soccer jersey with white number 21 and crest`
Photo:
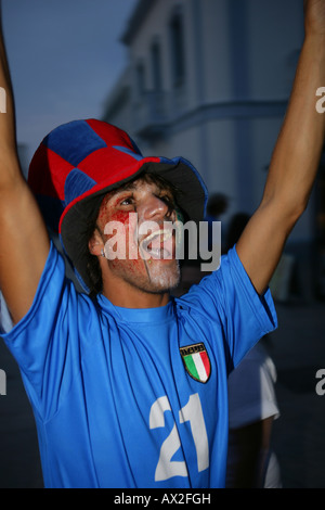
M 222 487 L 230 370 L 276 326 L 235 248 L 160 308 L 78 294 L 51 246 L 3 335 L 30 399 L 47 487 Z

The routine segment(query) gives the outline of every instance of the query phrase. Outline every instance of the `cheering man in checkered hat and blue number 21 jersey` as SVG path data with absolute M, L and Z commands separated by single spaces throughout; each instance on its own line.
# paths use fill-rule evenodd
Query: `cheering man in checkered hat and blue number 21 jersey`
M 156 230 L 153 241 L 140 232 L 154 221 L 165 234 L 179 209 L 204 217 L 196 170 L 182 158 L 143 158 L 123 131 L 96 120 L 43 140 L 29 183 L 42 207 L 63 207 L 64 250 L 91 296 L 77 293 L 20 173 L 1 42 L 9 104 L 0 116 L 0 285 L 15 323 L 4 341 L 32 405 L 47 487 L 224 485 L 227 373 L 276 326 L 265 290 L 323 148 L 315 91 L 325 82 L 324 42 L 325 0 L 308 0 L 261 205 L 220 269 L 180 299 L 169 296 L 179 279 L 174 237 L 167 234 L 171 257 L 161 257 Z M 132 256 L 109 253 L 113 221 L 125 226 Z

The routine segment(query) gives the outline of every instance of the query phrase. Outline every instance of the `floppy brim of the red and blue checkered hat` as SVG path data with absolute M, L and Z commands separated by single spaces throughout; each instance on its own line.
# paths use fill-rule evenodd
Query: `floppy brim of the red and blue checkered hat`
M 60 235 L 64 251 L 72 260 L 76 275 L 86 292 L 89 292 L 91 288 L 87 269 L 89 227 L 98 217 L 103 196 L 145 173 L 161 176 L 180 190 L 178 206 L 190 220 L 198 222 L 204 219 L 208 196 L 206 186 L 191 163 L 182 157 L 166 160 L 161 163 L 146 162 L 126 179 L 114 184 L 112 182 L 106 184 L 103 181 L 100 188 L 96 186 L 93 190 L 78 196 L 66 207 L 61 217 Z

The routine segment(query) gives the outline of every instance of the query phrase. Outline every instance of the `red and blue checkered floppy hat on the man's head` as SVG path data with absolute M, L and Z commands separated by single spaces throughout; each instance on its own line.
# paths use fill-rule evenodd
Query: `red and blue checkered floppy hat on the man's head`
M 103 195 L 143 173 L 158 174 L 177 187 L 178 205 L 188 219 L 204 219 L 208 193 L 190 162 L 143 157 L 125 131 L 102 120 L 58 126 L 31 160 L 28 183 L 86 290 L 90 286 L 84 255 L 89 220 L 98 214 Z

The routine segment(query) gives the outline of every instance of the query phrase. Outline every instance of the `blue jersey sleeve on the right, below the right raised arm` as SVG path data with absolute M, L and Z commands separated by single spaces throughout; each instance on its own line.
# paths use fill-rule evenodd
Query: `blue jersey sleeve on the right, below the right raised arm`
M 222 335 L 229 371 L 277 327 L 270 290 L 263 295 L 256 292 L 235 246 L 222 257 L 218 270 L 190 291 L 187 298 L 216 324 L 211 334 L 216 339 Z

